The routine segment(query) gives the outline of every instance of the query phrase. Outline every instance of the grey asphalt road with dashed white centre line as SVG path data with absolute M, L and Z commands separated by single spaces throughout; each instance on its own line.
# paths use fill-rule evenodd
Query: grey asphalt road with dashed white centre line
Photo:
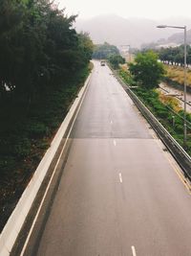
M 179 167 L 99 62 L 71 138 L 35 255 L 191 255 L 191 199 Z

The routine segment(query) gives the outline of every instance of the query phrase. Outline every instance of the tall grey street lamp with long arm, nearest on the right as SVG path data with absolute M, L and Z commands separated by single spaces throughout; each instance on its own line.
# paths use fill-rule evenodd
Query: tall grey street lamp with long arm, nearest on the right
M 186 26 L 167 26 L 167 25 L 159 25 L 157 26 L 159 29 L 172 28 L 172 29 L 181 29 L 184 30 L 184 82 L 183 82 L 183 146 L 186 147 L 186 137 L 187 137 L 187 128 L 186 128 Z

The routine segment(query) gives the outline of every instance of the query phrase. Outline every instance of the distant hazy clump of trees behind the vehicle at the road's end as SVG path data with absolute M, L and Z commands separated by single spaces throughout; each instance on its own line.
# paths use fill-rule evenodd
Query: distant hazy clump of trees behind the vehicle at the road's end
M 97 44 L 94 49 L 93 58 L 107 59 L 112 55 L 119 55 L 119 51 L 115 45 L 111 45 L 107 42 L 104 44 Z

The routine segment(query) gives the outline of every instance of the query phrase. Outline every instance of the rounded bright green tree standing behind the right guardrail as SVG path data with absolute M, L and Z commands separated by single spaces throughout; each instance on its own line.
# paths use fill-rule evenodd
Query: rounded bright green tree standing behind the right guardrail
M 163 64 L 158 61 L 158 55 L 152 51 L 139 53 L 135 63 L 130 63 L 129 70 L 136 81 L 149 88 L 158 87 L 165 73 Z

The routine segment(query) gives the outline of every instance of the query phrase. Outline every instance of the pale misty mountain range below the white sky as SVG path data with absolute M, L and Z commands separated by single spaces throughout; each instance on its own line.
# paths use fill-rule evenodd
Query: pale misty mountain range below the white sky
M 191 24 L 191 19 L 186 22 Z M 120 46 L 130 44 L 131 47 L 140 47 L 141 44 L 155 42 L 160 38 L 165 41 L 177 30 L 156 27 L 159 24 L 168 24 L 170 21 L 155 21 L 146 18 L 124 18 L 116 14 L 99 15 L 90 19 L 77 19 L 76 31 L 88 32 L 95 43 L 108 43 Z M 173 20 L 172 22 L 175 22 Z M 181 20 L 178 20 L 178 23 Z M 180 23 L 181 24 L 181 23 Z M 175 24 L 176 25 L 176 24 Z

